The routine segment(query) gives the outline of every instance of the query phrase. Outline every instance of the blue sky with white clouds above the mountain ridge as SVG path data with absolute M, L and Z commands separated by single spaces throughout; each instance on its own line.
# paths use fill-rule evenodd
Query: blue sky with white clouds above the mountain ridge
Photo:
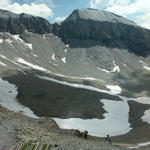
M 124 16 L 150 29 L 150 0 L 1 0 L 0 8 L 63 21 L 74 9 L 97 8 Z

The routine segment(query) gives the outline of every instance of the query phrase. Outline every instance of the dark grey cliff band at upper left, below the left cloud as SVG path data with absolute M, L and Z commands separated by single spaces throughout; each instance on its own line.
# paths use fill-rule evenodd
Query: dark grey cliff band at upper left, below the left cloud
M 51 32 L 51 24 L 41 17 L 28 14 L 14 14 L 5 10 L 0 10 L 0 32 L 10 32 L 11 34 L 21 34 L 24 31 L 33 33 Z

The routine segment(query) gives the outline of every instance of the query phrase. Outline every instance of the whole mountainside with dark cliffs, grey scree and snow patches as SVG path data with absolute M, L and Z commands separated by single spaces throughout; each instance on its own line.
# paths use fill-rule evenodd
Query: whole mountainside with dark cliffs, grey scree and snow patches
M 145 142 L 150 139 L 149 132 L 142 134 L 150 129 L 149 73 L 150 30 L 126 18 L 78 9 L 50 24 L 0 10 L 0 105 L 10 110 L 58 123 L 94 118 L 94 127 L 82 126 L 91 134 L 122 135 L 122 142 L 135 142 L 138 135 Z

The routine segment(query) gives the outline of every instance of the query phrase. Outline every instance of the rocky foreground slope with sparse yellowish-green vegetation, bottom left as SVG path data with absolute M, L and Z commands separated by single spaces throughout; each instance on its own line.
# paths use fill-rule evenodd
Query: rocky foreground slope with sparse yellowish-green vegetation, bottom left
M 75 130 L 62 130 L 50 118 L 31 119 L 20 113 L 10 112 L 0 107 L 0 149 L 11 148 L 21 144 L 49 144 L 60 150 L 109 149 L 125 150 L 123 146 L 114 146 L 105 139 L 88 140 L 79 137 Z

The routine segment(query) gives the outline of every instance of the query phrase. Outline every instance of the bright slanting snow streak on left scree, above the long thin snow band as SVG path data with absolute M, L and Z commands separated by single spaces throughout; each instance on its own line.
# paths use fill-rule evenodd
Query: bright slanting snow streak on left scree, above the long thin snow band
M 33 68 L 33 69 L 36 69 L 36 70 L 47 71 L 45 68 L 37 66 L 37 65 L 34 65 L 34 64 L 24 60 L 23 58 L 16 58 L 16 61 L 21 63 L 21 64 L 25 64 L 25 65 Z

